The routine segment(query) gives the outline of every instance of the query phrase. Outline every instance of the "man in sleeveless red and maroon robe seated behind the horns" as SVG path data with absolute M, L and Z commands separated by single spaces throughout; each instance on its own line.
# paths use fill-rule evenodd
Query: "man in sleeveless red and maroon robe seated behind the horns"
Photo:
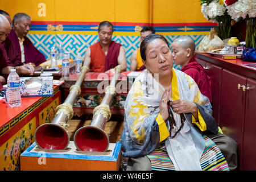
M 126 71 L 125 48 L 112 41 L 113 25 L 104 21 L 98 26 L 100 41 L 90 46 L 85 53 L 84 65 L 90 72 L 109 72 L 110 69 L 121 65 Z

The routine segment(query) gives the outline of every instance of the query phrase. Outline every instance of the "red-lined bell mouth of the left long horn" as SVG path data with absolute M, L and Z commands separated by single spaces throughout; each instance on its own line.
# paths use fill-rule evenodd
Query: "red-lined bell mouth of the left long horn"
M 35 141 L 39 147 L 51 150 L 65 150 L 69 143 L 68 133 L 63 127 L 45 123 L 35 131 Z

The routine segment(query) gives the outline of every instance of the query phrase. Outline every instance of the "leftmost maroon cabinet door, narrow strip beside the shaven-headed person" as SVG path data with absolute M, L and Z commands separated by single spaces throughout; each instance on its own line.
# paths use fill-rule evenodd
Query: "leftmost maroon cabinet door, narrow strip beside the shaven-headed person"
M 205 71 L 207 71 L 212 84 L 212 109 L 213 117 L 218 124 L 220 117 L 220 91 L 221 91 L 221 71 L 222 68 L 211 63 L 206 63 Z

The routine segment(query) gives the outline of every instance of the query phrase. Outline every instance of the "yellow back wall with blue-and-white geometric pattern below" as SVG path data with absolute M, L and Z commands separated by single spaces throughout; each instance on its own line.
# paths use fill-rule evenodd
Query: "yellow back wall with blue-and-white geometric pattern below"
M 19 12 L 31 16 L 28 38 L 47 59 L 56 43 L 71 52 L 72 59 L 78 52 L 84 56 L 86 49 L 98 41 L 98 24 L 112 22 L 112 39 L 125 47 L 127 71 L 143 26 L 153 26 L 170 45 L 179 36 L 191 36 L 197 47 L 210 28 L 217 27 L 204 18 L 200 1 L 191 0 L 1 0 L 0 7 L 11 18 Z

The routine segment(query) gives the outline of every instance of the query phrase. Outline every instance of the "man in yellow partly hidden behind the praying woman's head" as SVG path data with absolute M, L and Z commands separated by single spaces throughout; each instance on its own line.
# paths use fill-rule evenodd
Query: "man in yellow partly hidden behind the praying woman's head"
M 141 30 L 141 39 L 139 40 L 140 43 L 146 38 L 147 35 L 155 34 L 155 30 L 153 27 L 150 26 L 144 26 Z M 141 52 L 139 48 L 133 52 L 131 55 L 131 65 L 130 65 L 130 71 L 142 71 L 145 69 L 145 65 L 142 62 L 141 59 Z

